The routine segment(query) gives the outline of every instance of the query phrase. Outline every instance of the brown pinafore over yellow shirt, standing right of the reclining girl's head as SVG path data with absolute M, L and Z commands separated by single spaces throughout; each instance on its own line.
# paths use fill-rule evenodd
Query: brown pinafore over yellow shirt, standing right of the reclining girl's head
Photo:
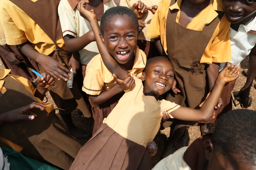
M 171 1 L 173 5 L 175 1 Z M 200 63 L 205 48 L 214 33 L 220 18 L 219 14 L 203 30 L 190 30 L 176 23 L 177 9 L 169 10 L 166 20 L 167 53 L 173 65 L 175 78 L 181 92 L 170 93 L 167 100 L 181 106 L 199 108 L 208 93 L 206 87 L 206 64 Z

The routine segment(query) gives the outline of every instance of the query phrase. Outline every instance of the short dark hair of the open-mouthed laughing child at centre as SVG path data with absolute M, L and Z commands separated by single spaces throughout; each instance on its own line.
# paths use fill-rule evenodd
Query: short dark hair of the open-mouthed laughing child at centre
M 100 20 L 100 32 L 102 35 L 104 35 L 104 30 L 107 26 L 108 23 L 111 22 L 112 18 L 119 16 L 119 15 L 126 15 L 129 17 L 133 23 L 127 23 L 128 24 L 133 24 L 137 27 L 137 32 L 139 32 L 139 23 L 138 23 L 138 18 L 136 14 L 133 12 L 133 10 L 124 7 L 124 6 L 116 6 L 109 8 L 108 10 L 105 11 L 105 13 L 102 15 L 101 20 Z

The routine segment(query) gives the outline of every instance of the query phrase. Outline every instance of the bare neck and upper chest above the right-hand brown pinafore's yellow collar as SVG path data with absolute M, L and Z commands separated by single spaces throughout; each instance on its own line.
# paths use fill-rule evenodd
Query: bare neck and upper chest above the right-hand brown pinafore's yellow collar
M 190 0 L 183 0 L 180 5 L 180 19 L 179 24 L 183 27 L 193 20 L 193 18 L 203 9 L 213 3 L 213 0 L 205 0 L 202 3 L 195 4 Z

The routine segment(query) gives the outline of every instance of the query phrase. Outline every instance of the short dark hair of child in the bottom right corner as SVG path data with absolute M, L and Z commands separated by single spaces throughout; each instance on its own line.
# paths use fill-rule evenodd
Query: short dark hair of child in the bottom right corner
M 256 112 L 236 109 L 223 114 L 212 137 L 214 151 L 233 166 L 237 162 L 256 167 Z

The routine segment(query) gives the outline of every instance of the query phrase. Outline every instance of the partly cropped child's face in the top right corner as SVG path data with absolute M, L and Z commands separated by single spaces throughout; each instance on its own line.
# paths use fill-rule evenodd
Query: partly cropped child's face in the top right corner
M 227 20 L 238 23 L 256 11 L 255 0 L 222 0 L 222 8 Z

